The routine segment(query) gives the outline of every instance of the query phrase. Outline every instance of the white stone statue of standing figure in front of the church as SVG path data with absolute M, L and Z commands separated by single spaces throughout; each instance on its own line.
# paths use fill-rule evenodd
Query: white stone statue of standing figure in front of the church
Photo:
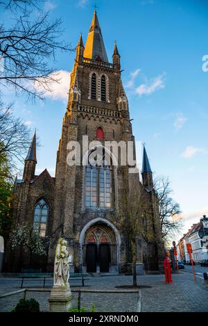
M 69 250 L 67 241 L 63 238 L 58 239 L 58 244 L 55 248 L 53 286 L 69 288 Z

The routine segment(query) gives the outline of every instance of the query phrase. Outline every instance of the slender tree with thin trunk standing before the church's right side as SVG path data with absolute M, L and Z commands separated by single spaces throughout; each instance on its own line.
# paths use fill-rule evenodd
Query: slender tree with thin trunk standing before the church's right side
M 117 223 L 125 230 L 130 241 L 133 286 L 137 286 L 137 241 L 141 238 L 147 243 L 155 243 L 156 240 L 153 231 L 153 207 L 148 193 L 141 189 L 137 178 L 131 180 L 131 187 L 125 184 L 120 203 Z

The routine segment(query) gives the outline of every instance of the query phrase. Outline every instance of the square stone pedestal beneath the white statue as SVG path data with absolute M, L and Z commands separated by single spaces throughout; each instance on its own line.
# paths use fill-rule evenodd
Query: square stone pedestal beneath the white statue
M 68 312 L 71 308 L 71 300 L 69 286 L 53 286 L 49 297 L 50 312 Z

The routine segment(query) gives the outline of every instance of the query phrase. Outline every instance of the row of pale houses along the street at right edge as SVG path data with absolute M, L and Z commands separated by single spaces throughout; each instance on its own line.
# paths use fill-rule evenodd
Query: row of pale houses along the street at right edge
M 208 218 L 206 215 L 200 219 L 200 222 L 193 224 L 191 229 L 184 234 L 177 243 L 177 255 L 180 261 L 190 261 L 187 252 L 187 244 L 192 247 L 192 259 L 196 263 L 208 259 Z

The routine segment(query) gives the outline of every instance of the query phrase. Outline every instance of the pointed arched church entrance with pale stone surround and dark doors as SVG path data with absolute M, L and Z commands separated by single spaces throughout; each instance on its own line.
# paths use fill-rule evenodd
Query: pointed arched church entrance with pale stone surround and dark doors
M 80 234 L 83 272 L 119 272 L 121 241 L 115 230 L 110 222 L 101 220 L 83 229 Z

